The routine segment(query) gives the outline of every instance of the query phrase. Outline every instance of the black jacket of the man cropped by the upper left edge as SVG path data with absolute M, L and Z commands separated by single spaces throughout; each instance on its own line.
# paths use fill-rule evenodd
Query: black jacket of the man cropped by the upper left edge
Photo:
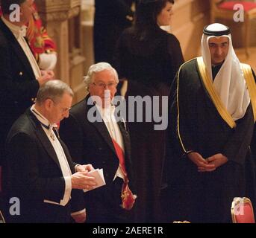
M 0 19 L 0 164 L 13 122 L 32 104 L 39 83 L 13 33 Z

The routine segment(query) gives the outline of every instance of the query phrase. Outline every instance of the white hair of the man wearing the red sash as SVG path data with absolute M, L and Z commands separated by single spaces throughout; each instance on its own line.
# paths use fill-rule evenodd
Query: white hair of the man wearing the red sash
M 94 74 L 104 71 L 104 70 L 113 71 L 113 74 L 116 78 L 116 83 L 119 83 L 118 74 L 116 72 L 116 69 L 114 69 L 108 62 L 98 62 L 95 65 L 90 66 L 87 76 L 84 77 L 85 88 L 88 89 L 90 84 L 93 83 L 93 75 Z

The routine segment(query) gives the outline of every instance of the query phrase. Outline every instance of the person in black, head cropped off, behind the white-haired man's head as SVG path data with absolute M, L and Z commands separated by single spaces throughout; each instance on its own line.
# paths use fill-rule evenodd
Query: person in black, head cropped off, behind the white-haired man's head
M 93 27 L 95 62 L 112 63 L 116 41 L 131 27 L 134 0 L 95 0 Z

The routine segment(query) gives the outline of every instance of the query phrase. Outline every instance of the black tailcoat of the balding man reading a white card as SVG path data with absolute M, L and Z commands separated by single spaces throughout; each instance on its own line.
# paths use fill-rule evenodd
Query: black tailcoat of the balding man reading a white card
M 66 145 L 61 140 L 60 144 L 75 173 L 75 163 Z M 44 199 L 60 202 L 65 181 L 54 148 L 30 109 L 16 120 L 7 135 L 4 164 L 7 199 L 20 200 L 20 216 L 10 216 L 11 222 L 69 222 L 71 211 L 84 209 L 82 190 L 72 190 L 72 208 L 70 202 L 65 207 L 43 202 Z

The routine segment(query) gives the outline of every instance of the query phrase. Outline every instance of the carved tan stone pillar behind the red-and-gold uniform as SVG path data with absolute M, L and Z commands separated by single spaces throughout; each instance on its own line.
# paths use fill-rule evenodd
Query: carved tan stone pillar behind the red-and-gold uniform
M 84 97 L 81 54 L 81 0 L 36 0 L 44 25 L 57 44 L 56 78 L 72 87 L 73 103 Z

